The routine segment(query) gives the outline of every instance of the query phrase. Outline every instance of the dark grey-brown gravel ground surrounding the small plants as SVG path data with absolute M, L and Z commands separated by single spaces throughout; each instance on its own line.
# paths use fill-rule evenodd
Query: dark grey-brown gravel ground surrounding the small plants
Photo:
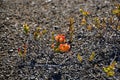
M 111 13 L 119 0 L 0 0 L 0 80 L 120 80 L 120 26 L 118 17 Z M 90 12 L 87 23 L 93 18 L 106 19 L 105 29 L 88 31 L 80 25 L 80 9 Z M 73 17 L 74 35 L 71 50 L 56 53 L 51 49 L 52 32 L 65 34 L 69 39 L 69 18 Z M 114 22 L 109 23 L 113 17 Z M 25 35 L 23 24 L 30 33 Z M 47 31 L 38 40 L 33 33 L 36 27 Z M 27 43 L 23 59 L 18 48 Z M 88 58 L 96 53 L 93 61 Z M 77 54 L 83 57 L 80 62 Z M 114 56 L 117 56 L 116 58 Z M 107 77 L 103 67 L 115 58 L 115 75 Z M 97 66 L 97 67 L 96 67 Z

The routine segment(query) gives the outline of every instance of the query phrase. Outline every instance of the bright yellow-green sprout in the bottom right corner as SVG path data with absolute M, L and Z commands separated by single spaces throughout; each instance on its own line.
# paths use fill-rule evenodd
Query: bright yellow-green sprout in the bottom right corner
M 103 67 L 103 71 L 106 73 L 108 77 L 114 76 L 115 74 L 114 69 L 116 64 L 117 64 L 116 61 L 113 61 L 109 66 Z

